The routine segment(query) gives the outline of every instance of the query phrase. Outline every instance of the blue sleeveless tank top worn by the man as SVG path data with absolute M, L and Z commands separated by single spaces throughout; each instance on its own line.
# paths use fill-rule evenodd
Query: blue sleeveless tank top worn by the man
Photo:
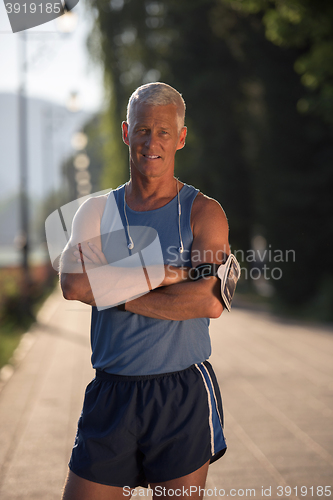
M 124 215 L 125 186 L 111 191 L 116 200 L 120 217 L 126 228 Z M 110 195 L 111 195 L 110 193 Z M 178 199 L 147 212 L 135 212 L 126 205 L 130 228 L 148 226 L 159 235 L 164 264 L 191 266 L 191 209 L 198 190 L 184 184 L 180 190 L 181 234 L 184 252 L 179 253 Z M 111 228 L 108 210 L 110 195 L 101 220 L 102 250 L 109 253 Z M 113 201 L 114 203 L 114 201 Z M 110 260 L 108 259 L 110 262 Z M 153 375 L 184 370 L 194 363 L 201 363 L 211 353 L 209 319 L 196 318 L 170 321 L 147 318 L 116 307 L 98 311 L 92 308 L 91 346 L 92 365 L 95 369 L 119 375 Z

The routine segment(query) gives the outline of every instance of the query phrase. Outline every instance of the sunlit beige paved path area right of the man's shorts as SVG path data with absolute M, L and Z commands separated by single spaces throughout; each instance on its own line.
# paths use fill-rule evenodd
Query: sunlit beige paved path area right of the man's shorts
M 211 335 L 229 449 L 207 487 L 319 498 L 331 486 L 333 496 L 333 330 L 233 309 Z

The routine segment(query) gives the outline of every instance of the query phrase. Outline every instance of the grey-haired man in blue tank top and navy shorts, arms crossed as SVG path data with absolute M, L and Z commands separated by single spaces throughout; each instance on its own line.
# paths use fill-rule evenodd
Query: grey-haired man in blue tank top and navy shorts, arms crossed
M 208 465 L 226 450 L 221 399 L 206 361 L 208 318 L 223 311 L 221 283 L 215 275 L 193 280 L 191 268 L 221 264 L 230 253 L 228 223 L 215 200 L 174 177 L 184 117 L 175 89 L 139 87 L 122 124 L 130 180 L 88 200 L 74 218 L 61 286 L 66 299 L 93 306 L 96 378 L 87 387 L 63 500 L 124 498 L 148 484 L 156 498 L 172 491 L 186 497 L 190 486 L 191 497 L 202 498 Z M 124 248 L 129 260 L 146 255 L 152 238 L 141 238 L 138 227 L 158 234 L 164 276 L 158 259 L 144 272 L 122 267 Z

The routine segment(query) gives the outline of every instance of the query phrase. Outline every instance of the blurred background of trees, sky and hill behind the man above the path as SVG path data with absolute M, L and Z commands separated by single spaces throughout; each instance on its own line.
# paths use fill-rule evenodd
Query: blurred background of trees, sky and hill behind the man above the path
M 330 0 L 81 0 L 16 34 L 2 3 L 0 67 L 0 366 L 57 279 L 46 217 L 128 179 L 120 124 L 153 81 L 187 103 L 176 175 L 226 211 L 239 303 L 332 321 Z

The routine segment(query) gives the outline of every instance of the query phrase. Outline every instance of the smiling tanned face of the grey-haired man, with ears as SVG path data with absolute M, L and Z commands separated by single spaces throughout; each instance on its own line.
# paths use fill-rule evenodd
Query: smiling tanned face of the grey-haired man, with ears
M 175 154 L 185 145 L 186 127 L 178 130 L 177 108 L 137 103 L 130 126 L 123 123 L 123 140 L 129 146 L 132 175 L 162 177 L 174 170 Z

